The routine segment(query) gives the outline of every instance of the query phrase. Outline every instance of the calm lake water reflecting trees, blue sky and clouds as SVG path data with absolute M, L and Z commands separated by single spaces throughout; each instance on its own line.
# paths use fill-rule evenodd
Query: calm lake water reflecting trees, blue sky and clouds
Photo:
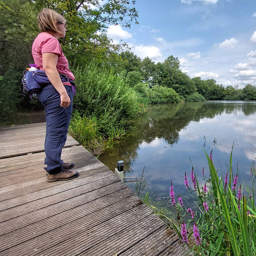
M 223 176 L 233 149 L 233 173 L 250 185 L 252 159 L 256 157 L 256 101 L 205 101 L 149 105 L 150 111 L 134 121 L 135 130 L 126 140 L 100 157 L 112 171 L 124 160 L 125 176 L 140 178 L 145 166 L 145 194 L 165 204 L 171 181 L 174 192 L 188 204 L 193 197 L 184 186 L 184 172 L 191 184 L 192 165 L 200 187 L 204 185 L 202 169 L 209 175 L 202 148 L 210 155 L 216 170 Z M 126 185 L 135 188 L 135 182 Z M 162 203 L 161 203 L 162 202 Z

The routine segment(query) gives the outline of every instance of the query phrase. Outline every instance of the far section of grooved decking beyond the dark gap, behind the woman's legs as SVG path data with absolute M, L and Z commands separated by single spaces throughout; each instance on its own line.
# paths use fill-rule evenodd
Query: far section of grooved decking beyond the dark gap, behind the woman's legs
M 43 151 L 45 132 L 46 123 L 17 125 L 0 129 L 0 158 Z M 67 135 L 64 147 L 74 145 L 79 145 L 79 143 Z

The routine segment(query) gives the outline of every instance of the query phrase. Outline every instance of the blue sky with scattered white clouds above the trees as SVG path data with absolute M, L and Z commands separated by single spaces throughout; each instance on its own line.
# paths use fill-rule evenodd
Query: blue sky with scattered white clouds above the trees
M 256 84 L 256 0 L 137 0 L 138 24 L 110 25 L 141 59 L 173 55 L 188 76 L 218 84 Z

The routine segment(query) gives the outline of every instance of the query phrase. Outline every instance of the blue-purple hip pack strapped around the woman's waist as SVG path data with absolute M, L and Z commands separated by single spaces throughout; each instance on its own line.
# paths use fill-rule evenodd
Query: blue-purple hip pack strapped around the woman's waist
M 69 79 L 64 74 L 59 74 L 62 83 L 69 82 L 74 84 L 73 80 Z M 23 72 L 23 78 L 21 80 L 23 93 L 36 94 L 41 92 L 42 89 L 51 84 L 49 78 L 46 76 L 44 70 L 37 69 L 36 71 L 28 71 L 27 69 Z

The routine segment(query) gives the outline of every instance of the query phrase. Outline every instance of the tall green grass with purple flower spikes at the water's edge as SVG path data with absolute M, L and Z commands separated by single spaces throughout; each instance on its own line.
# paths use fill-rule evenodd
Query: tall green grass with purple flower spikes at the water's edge
M 256 255 L 255 169 L 252 168 L 252 188 L 244 184 L 238 186 L 237 175 L 233 177 L 232 173 L 232 151 L 233 147 L 229 169 L 222 178 L 218 177 L 215 170 L 212 154 L 209 157 L 204 150 L 210 175 L 206 181 L 208 185 L 205 183 L 202 189 L 198 186 L 192 168 L 192 184 L 189 186 L 185 182 L 185 186 L 189 186 L 188 189 L 195 195 L 198 206 L 196 212 L 186 209 L 181 197 L 175 202 L 172 186 L 170 198 L 177 212 L 178 224 L 163 212 L 158 213 L 172 222 L 174 229 L 194 255 Z M 189 220 L 186 221 L 188 216 Z

